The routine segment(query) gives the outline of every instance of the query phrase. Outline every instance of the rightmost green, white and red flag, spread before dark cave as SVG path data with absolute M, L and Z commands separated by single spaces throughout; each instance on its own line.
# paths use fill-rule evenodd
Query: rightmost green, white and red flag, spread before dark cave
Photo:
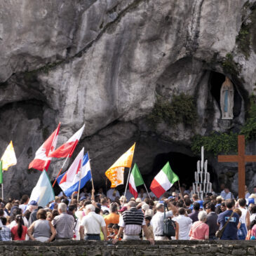
M 179 177 L 173 173 L 173 170 L 170 168 L 170 163 L 167 162 L 156 177 L 154 177 L 154 180 L 151 182 L 150 189 L 159 198 L 178 180 L 180 180 Z

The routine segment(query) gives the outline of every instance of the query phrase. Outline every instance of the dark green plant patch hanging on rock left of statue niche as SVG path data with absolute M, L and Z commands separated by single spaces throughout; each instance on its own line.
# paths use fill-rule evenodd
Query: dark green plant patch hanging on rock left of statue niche
M 191 126 L 197 119 L 194 98 L 181 93 L 180 95 L 173 95 L 173 100 L 169 102 L 158 96 L 148 119 L 154 124 L 165 121 L 169 125 L 176 126 L 178 123 L 184 123 L 185 126 Z

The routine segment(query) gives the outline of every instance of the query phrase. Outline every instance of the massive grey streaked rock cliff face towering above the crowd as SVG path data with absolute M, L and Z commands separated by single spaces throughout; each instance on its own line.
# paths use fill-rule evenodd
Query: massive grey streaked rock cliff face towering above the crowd
M 90 151 L 97 186 L 134 141 L 146 175 L 158 154 L 193 156 L 194 134 L 227 130 L 212 93 L 219 76 L 234 83 L 233 126 L 241 126 L 255 90 L 255 6 L 245 0 L 1 1 L 1 152 L 13 140 L 18 158 L 4 173 L 6 194 L 30 193 L 40 172 L 28 164 L 59 121 L 58 144 L 86 123 L 75 153 Z M 146 116 L 156 95 L 172 100 L 180 93 L 196 99 L 196 126 L 161 122 L 153 130 Z M 255 152 L 253 144 L 248 151 Z M 220 179 L 220 168 L 232 167 L 211 162 Z M 61 164 L 52 163 L 51 178 Z M 256 184 L 253 167 L 248 186 Z

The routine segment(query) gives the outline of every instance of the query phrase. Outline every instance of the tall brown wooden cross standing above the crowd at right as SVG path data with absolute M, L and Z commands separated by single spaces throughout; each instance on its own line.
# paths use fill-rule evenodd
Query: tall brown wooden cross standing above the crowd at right
M 218 161 L 238 163 L 238 197 L 245 198 L 245 163 L 256 162 L 256 156 L 245 155 L 245 136 L 238 135 L 237 156 L 218 156 Z

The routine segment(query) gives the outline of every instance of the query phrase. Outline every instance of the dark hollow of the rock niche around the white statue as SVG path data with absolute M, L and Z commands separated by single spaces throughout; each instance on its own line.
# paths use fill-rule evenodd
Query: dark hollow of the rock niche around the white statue
M 213 95 L 215 100 L 217 101 L 217 105 L 220 109 L 220 89 L 222 88 L 222 83 L 225 81 L 224 74 L 218 72 L 211 72 L 210 74 L 210 93 Z M 236 84 L 234 81 L 231 81 L 234 84 L 234 108 L 233 114 L 234 118 L 239 116 L 241 113 L 241 106 L 242 106 L 242 98 L 241 95 L 238 93 L 236 88 Z

